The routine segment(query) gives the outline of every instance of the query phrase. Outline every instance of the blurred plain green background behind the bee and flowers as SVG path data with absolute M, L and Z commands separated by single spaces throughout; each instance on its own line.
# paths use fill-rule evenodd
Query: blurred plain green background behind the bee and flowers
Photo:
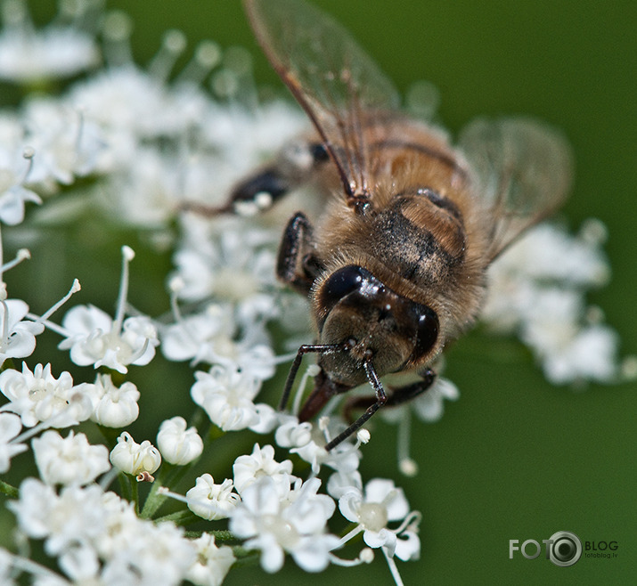
M 622 354 L 637 354 L 637 4 L 314 4 L 340 20 L 402 91 L 421 79 L 437 85 L 440 117 L 452 131 L 479 115 L 513 113 L 564 129 L 577 163 L 575 189 L 565 208 L 568 223 L 576 230 L 594 216 L 608 226 L 612 281 L 590 301 L 600 305 L 617 330 Z M 277 84 L 237 1 L 118 0 L 108 5 L 133 16 L 139 62 L 150 60 L 167 28 L 180 28 L 193 45 L 211 38 L 224 47 L 249 47 L 256 55 L 257 81 Z M 116 266 L 118 249 L 107 244 L 103 250 L 110 258 L 103 262 Z M 94 269 L 101 262 L 94 258 L 90 264 Z M 143 263 L 135 266 L 140 268 L 133 270 L 131 295 L 143 305 L 135 300 Z M 72 276 L 90 289 L 90 274 L 84 279 L 77 274 L 81 263 L 73 268 Z M 105 298 L 114 299 L 117 282 L 109 287 Z M 163 292 L 158 296 L 166 309 Z M 142 308 L 151 311 L 148 304 Z M 376 439 L 381 434 L 383 439 L 372 442 L 362 463 L 363 477 L 395 478 L 412 508 L 422 512 L 421 561 L 399 563 L 404 582 L 600 584 L 634 579 L 637 385 L 592 385 L 584 392 L 551 387 L 519 344 L 479 333 L 453 348 L 446 373 L 460 387 L 461 399 L 447 404 L 437 424 L 414 424 L 412 452 L 420 474 L 398 475 L 390 430 L 377 432 Z M 509 559 L 509 540 L 542 541 L 562 530 L 582 541 L 617 541 L 617 558 L 583 557 L 569 568 L 543 556 L 528 560 L 518 553 Z M 309 578 L 287 560 L 281 574 L 243 569 L 226 583 L 310 580 L 391 583 L 380 558 L 372 566 L 331 568 Z

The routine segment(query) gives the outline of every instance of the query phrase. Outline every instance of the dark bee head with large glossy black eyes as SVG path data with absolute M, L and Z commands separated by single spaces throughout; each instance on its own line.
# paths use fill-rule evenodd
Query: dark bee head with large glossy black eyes
M 314 306 L 320 343 L 343 347 L 319 362 L 339 383 L 363 383 L 365 361 L 382 376 L 421 362 L 437 346 L 436 313 L 388 289 L 362 266 L 344 266 L 321 281 Z

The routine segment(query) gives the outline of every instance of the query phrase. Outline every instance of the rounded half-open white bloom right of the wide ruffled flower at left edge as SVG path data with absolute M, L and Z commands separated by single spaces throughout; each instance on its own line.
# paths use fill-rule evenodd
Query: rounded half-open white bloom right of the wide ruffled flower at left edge
M 91 419 L 105 427 L 127 427 L 139 416 L 139 397 L 134 383 L 125 382 L 116 387 L 110 374 L 98 374 L 91 395 Z

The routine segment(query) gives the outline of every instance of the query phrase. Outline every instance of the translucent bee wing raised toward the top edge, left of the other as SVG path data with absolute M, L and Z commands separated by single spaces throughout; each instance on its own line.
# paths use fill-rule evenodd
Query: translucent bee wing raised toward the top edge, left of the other
M 396 88 L 345 28 L 303 0 L 243 4 L 266 57 L 321 135 L 347 196 L 367 196 L 363 126 L 398 109 Z

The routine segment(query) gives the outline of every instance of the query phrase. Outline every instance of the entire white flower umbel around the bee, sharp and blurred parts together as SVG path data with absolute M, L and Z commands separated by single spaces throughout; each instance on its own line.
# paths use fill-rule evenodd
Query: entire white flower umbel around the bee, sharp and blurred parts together
M 20 248 L 3 264 L 0 246 L 0 474 L 18 477 L 30 457 L 39 476 L 20 476 L 17 486 L 4 476 L 0 482 L 11 499 L 0 511 L 7 516 L 2 525 L 17 529 L 15 548 L 0 549 L 0 582 L 25 573 L 42 584 L 216 585 L 239 558 L 272 573 L 289 555 L 307 572 L 320 572 L 369 563 L 379 551 L 402 583 L 396 559 L 419 558 L 421 515 L 393 480 L 363 483 L 361 444 L 369 433 L 326 452 L 344 423 L 299 423 L 300 392 L 315 366 L 301 380 L 291 415 L 259 402 L 277 364 L 290 361 L 277 354 L 311 337 L 274 281 L 280 231 L 272 218 L 181 211 L 186 201 L 223 202 L 233 182 L 297 134 L 304 118 L 287 102 L 258 104 L 241 50 L 223 53 L 204 43 L 172 76 L 184 50 L 184 38 L 172 31 L 151 67 L 137 68 L 127 45 L 130 23 L 120 13 L 94 18 L 99 4 L 62 1 L 61 24 L 37 30 L 24 3 L 4 3 L 0 77 L 32 84 L 82 75 L 65 94 L 29 95 L 19 108 L 0 111 L 0 245 L 16 234 L 13 244 L 45 239 L 43 222 L 82 221 L 90 209 L 103 218 L 104 234 L 106 224 L 133 227 L 170 251 L 174 270 L 162 278 L 171 311 L 149 316 L 128 303 L 135 253 L 124 246 L 112 314 L 85 303 L 54 321 L 78 292 L 77 281 L 47 312 L 31 313 L 26 301 L 8 298 L 4 281 L 29 252 Z M 88 21 L 103 21 L 108 65 L 86 73 L 99 61 L 96 31 L 80 27 Z M 214 94 L 200 83 L 207 77 Z M 608 273 L 596 226 L 576 237 L 539 226 L 490 275 L 483 320 L 519 334 L 559 383 L 618 376 L 617 339 L 600 312 L 584 305 L 586 289 Z M 45 363 L 32 358 L 45 330 L 61 337 L 57 349 L 78 367 L 72 375 L 57 366 L 54 352 Z M 162 387 L 152 370 L 158 362 L 164 370 L 157 372 L 187 376 L 167 378 Z M 150 380 L 157 395 L 148 391 Z M 149 403 L 176 394 L 191 420 L 152 420 Z M 408 456 L 410 410 L 433 421 L 444 400 L 457 397 L 451 381 L 437 378 L 412 405 L 385 411 L 401 424 L 405 474 L 416 471 Z M 156 445 L 135 441 L 127 428 L 137 419 L 158 430 Z M 237 454 L 246 442 L 224 435 L 241 431 L 268 434 L 274 444 Z M 102 443 L 94 439 L 100 433 Z M 277 452 L 292 459 L 277 460 Z M 304 476 L 292 460 L 301 460 Z M 216 462 L 233 462 L 232 473 L 218 471 Z M 178 484 L 199 464 L 194 485 Z M 111 486 L 116 477 L 119 494 Z M 184 505 L 161 517 L 167 497 Z M 205 529 L 197 539 L 182 528 L 193 521 Z M 216 545 L 222 539 L 227 544 Z M 29 540 L 42 542 L 34 550 L 43 549 L 44 558 L 24 557 Z M 354 558 L 339 557 L 346 544 L 347 551 L 358 548 Z

